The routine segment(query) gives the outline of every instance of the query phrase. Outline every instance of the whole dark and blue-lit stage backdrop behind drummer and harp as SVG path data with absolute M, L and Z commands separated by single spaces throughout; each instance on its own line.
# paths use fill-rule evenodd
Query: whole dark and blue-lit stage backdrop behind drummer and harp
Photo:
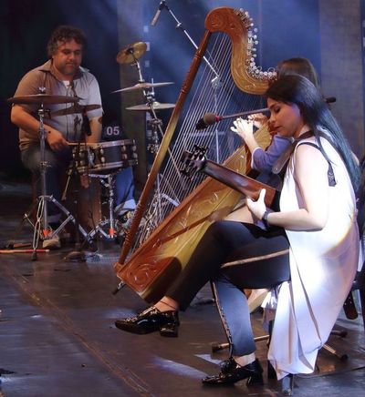
M 267 68 L 284 58 L 306 56 L 321 75 L 320 23 L 318 0 L 168 0 L 173 15 L 198 44 L 203 36 L 203 21 L 217 6 L 242 7 L 249 11 L 258 28 L 257 64 Z M 361 4 L 363 2 L 361 1 Z M 10 123 L 10 106 L 18 80 L 30 68 L 46 61 L 46 45 L 50 32 L 61 24 L 77 25 L 89 38 L 83 65 L 97 76 L 105 110 L 104 124 L 120 119 L 120 108 L 130 100 L 126 94 L 110 94 L 120 87 L 137 82 L 131 70 L 129 80 L 120 82 L 120 69 L 115 60 L 128 43 L 145 41 L 149 51 L 141 58 L 146 80 L 173 81 L 173 86 L 156 89 L 160 102 L 175 102 L 194 54 L 194 47 L 177 28 L 177 22 L 166 9 L 155 26 L 151 19 L 159 0 L 2 0 L 0 1 L 0 172 L 9 177 L 25 171 L 17 148 L 17 129 Z M 134 8 L 141 7 L 142 17 Z M 134 15 L 134 16 L 133 16 Z M 120 30 L 123 27 L 123 37 Z M 130 32 L 130 36 L 129 36 Z M 120 41 L 119 41 L 120 40 Z M 134 73 L 134 75 L 133 75 Z M 325 95 L 332 96 L 332 92 Z M 130 105 L 136 105 L 133 103 Z M 338 104 L 336 105 L 338 106 Z M 170 113 L 169 113 L 170 114 Z M 166 120 L 163 120 L 166 123 Z M 130 126 L 128 126 L 130 127 Z M 134 127 L 134 126 L 132 126 Z

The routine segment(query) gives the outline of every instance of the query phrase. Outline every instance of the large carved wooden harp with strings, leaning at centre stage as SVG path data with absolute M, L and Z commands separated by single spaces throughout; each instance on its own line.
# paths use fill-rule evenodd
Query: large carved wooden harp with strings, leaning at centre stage
M 230 133 L 229 122 L 220 124 L 219 130 L 212 126 L 203 133 L 196 133 L 194 124 L 206 111 L 233 113 L 242 107 L 245 110 L 260 107 L 258 103 L 262 99 L 258 96 L 265 93 L 276 74 L 255 65 L 255 44 L 255 30 L 247 12 L 220 7 L 206 16 L 202 41 L 141 192 L 120 259 L 114 264 L 120 280 L 148 302 L 163 296 L 183 270 L 205 230 L 231 212 L 242 197 L 212 178 L 201 176 L 187 181 L 180 175 L 177 162 L 183 150 L 196 143 L 213 146 L 210 158 L 224 162 L 225 167 L 240 173 L 250 170 L 251 156 L 241 139 Z M 202 59 L 205 67 L 200 67 Z M 190 91 L 194 94 L 185 110 L 183 106 Z M 180 125 L 179 117 L 183 119 Z M 255 137 L 263 148 L 271 140 L 266 127 L 260 128 Z M 162 162 L 165 166 L 159 194 L 151 198 Z

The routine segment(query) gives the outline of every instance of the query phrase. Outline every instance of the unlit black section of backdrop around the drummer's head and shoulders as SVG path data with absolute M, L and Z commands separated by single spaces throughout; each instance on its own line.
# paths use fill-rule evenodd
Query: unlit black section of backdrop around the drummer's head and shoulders
M 105 123 L 120 120 L 117 0 L 2 0 L 0 2 L 0 172 L 8 178 L 26 175 L 17 148 L 17 128 L 10 106 L 19 79 L 47 61 L 47 40 L 57 25 L 76 25 L 88 36 L 83 66 L 99 80 Z

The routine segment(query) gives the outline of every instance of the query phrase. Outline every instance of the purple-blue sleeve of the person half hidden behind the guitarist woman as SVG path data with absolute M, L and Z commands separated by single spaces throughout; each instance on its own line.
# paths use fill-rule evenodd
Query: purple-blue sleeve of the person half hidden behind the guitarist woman
M 287 137 L 275 135 L 266 151 L 262 148 L 256 148 L 254 150 L 252 168 L 261 172 L 270 172 L 277 158 L 280 157 L 289 145 L 290 140 Z

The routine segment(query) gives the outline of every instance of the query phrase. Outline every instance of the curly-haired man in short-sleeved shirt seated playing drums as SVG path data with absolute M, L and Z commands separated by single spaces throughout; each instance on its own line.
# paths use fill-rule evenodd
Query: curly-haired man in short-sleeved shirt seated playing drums
M 29 71 L 21 79 L 15 94 L 15 97 L 43 93 L 48 96 L 80 98 L 78 103 L 57 103 L 55 97 L 54 101 L 45 104 L 50 110 L 44 118 L 47 130 L 46 161 L 50 165 L 46 173 L 47 194 L 53 195 L 58 201 L 61 195 L 59 181 L 65 175 L 71 160 L 68 143 L 80 139 L 95 143 L 101 137 L 103 109 L 99 84 L 95 76 L 81 66 L 86 46 L 87 39 L 81 30 L 69 25 L 58 26 L 47 44 L 49 60 Z M 36 118 L 38 108 L 38 103 L 17 104 L 11 111 L 11 120 L 19 127 L 22 162 L 36 176 L 39 176 L 40 171 L 39 121 Z M 53 228 L 57 227 L 60 216 L 57 212 L 55 206 L 48 206 L 48 221 Z

